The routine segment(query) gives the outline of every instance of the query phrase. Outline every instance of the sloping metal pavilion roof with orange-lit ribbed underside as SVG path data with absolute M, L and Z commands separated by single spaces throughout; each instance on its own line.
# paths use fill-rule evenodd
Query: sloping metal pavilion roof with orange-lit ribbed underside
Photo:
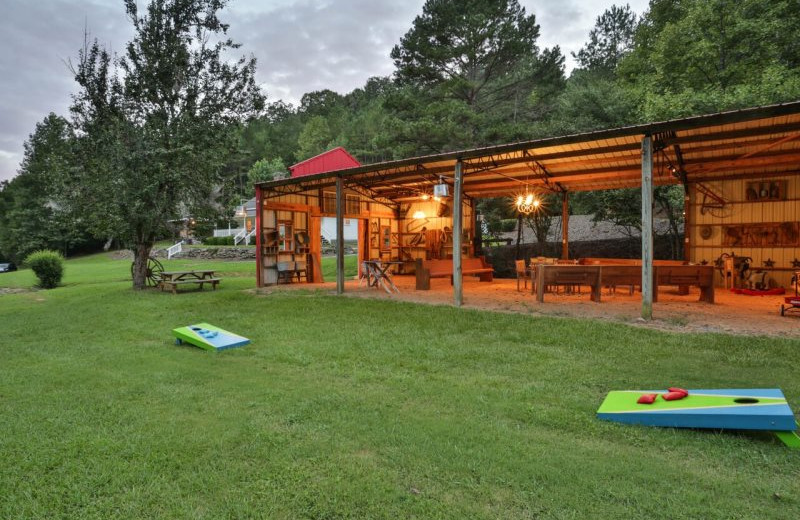
M 265 197 L 346 187 L 396 203 L 452 183 L 463 162 L 464 194 L 589 191 L 641 184 L 641 142 L 654 142 L 654 182 L 676 184 L 800 173 L 800 101 L 657 123 L 387 161 L 259 183 Z

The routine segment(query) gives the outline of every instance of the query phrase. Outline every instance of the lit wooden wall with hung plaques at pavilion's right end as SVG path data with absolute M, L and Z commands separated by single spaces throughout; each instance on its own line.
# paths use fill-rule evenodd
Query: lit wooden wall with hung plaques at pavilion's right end
M 788 288 L 792 261 L 800 258 L 798 242 L 791 236 L 800 228 L 800 174 L 704 185 L 722 196 L 725 205 L 715 208 L 710 199 L 704 204 L 704 195 L 696 185 L 690 185 L 689 260 L 713 264 L 722 253 L 735 253 L 751 257 L 753 268 L 765 267 L 764 262 L 772 260 L 775 264 L 770 275 L 779 286 Z M 770 193 L 770 187 L 774 191 L 776 186 L 781 192 L 777 200 L 771 197 L 776 193 Z M 717 281 L 722 284 L 721 277 Z

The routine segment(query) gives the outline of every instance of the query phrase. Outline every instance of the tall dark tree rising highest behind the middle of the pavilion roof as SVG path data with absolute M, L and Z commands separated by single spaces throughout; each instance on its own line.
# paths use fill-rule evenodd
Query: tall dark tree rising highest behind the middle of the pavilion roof
M 530 136 L 563 83 L 560 50 L 540 51 L 538 37 L 516 0 L 428 0 L 391 54 L 403 153 Z

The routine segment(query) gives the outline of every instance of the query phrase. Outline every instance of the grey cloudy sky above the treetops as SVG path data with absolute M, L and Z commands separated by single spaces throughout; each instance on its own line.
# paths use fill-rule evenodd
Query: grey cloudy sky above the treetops
M 145 1 L 140 0 L 140 5 Z M 258 59 L 269 101 L 305 92 L 346 93 L 389 75 L 389 52 L 424 0 L 232 0 L 222 18 L 244 53 Z M 571 51 L 613 0 L 521 0 L 541 27 L 540 47 Z M 616 3 L 622 4 L 623 1 Z M 629 0 L 641 14 L 647 0 Z M 91 38 L 121 51 L 131 37 L 122 0 L 0 0 L 0 180 L 16 174 L 23 143 L 49 112 L 67 115 L 75 84 L 67 68 Z

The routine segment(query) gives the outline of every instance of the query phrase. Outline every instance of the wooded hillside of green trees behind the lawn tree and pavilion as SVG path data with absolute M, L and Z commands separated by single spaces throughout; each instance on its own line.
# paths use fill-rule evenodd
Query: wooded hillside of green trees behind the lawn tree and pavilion
M 253 182 L 334 146 L 371 163 L 797 100 L 798 31 L 795 0 L 651 0 L 638 14 L 613 6 L 599 14 L 566 76 L 561 49 L 540 46 L 535 13 L 517 0 L 428 0 L 391 50 L 391 77 L 370 78 L 346 94 L 308 92 L 298 106 L 275 100 L 262 109 L 244 92 L 254 101 L 241 118 L 213 121 L 226 125 L 220 135 L 235 146 L 214 148 L 216 170 L 205 177 L 206 191 L 219 190 L 229 203 L 252 196 Z M 240 66 L 247 76 L 254 65 Z M 98 231 L 104 234 L 97 238 L 114 234 L 87 222 L 91 216 L 59 215 L 63 203 L 48 196 L 54 172 L 70 170 L 72 143 L 85 133 L 74 114 L 71 120 L 51 114 L 37 125 L 19 175 L 0 191 L 0 256 L 19 259 L 41 247 L 69 251 Z M 675 218 L 680 189 L 660 187 L 656 194 L 666 213 L 676 210 Z M 625 210 L 638 211 L 636 197 L 575 194 L 572 211 L 630 225 Z M 490 218 L 513 217 L 501 205 L 485 204 Z M 177 208 L 160 211 L 173 215 Z

